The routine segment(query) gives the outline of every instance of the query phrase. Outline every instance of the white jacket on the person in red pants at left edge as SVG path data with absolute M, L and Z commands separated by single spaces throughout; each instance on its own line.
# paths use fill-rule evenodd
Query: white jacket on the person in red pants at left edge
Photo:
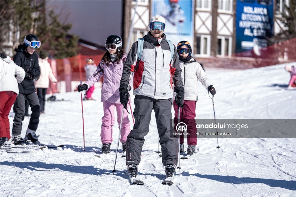
M 25 78 L 26 72 L 17 66 L 9 56 L 0 58 L 0 92 L 12 91 L 19 94 L 18 83 Z M 15 77 L 16 75 L 16 77 Z

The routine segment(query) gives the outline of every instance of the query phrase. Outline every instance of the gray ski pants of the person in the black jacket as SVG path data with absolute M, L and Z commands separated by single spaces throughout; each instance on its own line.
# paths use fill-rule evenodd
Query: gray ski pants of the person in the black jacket
M 38 128 L 39 116 L 40 116 L 40 104 L 39 104 L 39 100 L 36 92 L 32 92 L 30 94 L 20 93 L 19 95 L 17 95 L 17 98 L 14 103 L 16 113 L 15 113 L 15 118 L 13 119 L 12 135 L 21 134 L 22 121 L 24 120 L 24 115 L 25 115 L 25 98 L 28 100 L 32 110 L 28 128 L 33 131 L 36 131 Z

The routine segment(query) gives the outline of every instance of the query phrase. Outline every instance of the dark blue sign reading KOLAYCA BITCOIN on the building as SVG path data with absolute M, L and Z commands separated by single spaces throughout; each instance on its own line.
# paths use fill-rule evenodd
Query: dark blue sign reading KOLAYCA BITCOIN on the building
M 273 0 L 238 0 L 236 15 L 236 53 L 267 47 L 273 35 Z

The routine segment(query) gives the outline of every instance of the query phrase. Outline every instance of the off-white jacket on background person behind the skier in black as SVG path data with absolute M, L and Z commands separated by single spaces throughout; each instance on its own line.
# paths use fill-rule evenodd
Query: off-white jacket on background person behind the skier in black
M 36 81 L 36 88 L 48 88 L 49 87 L 49 79 L 52 82 L 57 82 L 57 79 L 52 74 L 52 68 L 47 60 L 38 58 L 39 66 L 40 66 L 40 76 Z

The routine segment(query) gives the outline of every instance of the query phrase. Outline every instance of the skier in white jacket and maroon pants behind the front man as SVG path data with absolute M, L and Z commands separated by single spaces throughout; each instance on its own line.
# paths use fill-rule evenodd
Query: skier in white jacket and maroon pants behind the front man
M 191 45 L 187 41 L 181 41 L 177 45 L 177 51 L 179 55 L 180 68 L 182 69 L 182 81 L 184 84 L 184 104 L 180 108 L 180 122 L 187 125 L 187 155 L 195 153 L 195 146 L 197 144 L 197 128 L 195 122 L 195 107 L 198 100 L 198 81 L 212 94 L 216 93 L 215 88 L 211 85 L 210 80 L 207 78 L 205 71 L 197 61 L 191 57 Z M 176 95 L 176 94 L 174 94 Z M 174 124 L 175 131 L 178 123 L 178 105 L 174 101 Z M 180 135 L 180 153 L 184 152 L 184 136 Z

